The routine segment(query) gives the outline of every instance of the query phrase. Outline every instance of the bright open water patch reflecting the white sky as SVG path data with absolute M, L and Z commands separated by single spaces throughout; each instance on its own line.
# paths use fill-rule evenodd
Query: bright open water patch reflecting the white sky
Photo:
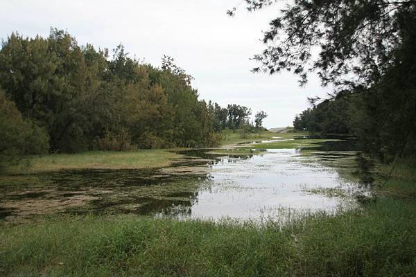
M 223 159 L 211 166 L 209 174 L 211 181 L 198 191 L 189 217 L 247 220 L 276 217 L 282 208 L 336 211 L 349 206 L 350 199 L 310 191 L 356 187 L 319 159 L 294 149 L 267 150 L 266 154 L 232 162 Z

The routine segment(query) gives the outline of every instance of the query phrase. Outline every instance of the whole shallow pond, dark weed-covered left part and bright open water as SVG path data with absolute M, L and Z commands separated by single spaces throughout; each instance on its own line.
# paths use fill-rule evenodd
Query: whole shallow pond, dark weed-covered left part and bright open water
M 281 219 L 288 211 L 354 208 L 368 178 L 349 141 L 257 155 L 182 151 L 168 168 L 67 170 L 0 186 L 0 217 L 24 222 L 56 213 L 135 213 L 218 220 Z

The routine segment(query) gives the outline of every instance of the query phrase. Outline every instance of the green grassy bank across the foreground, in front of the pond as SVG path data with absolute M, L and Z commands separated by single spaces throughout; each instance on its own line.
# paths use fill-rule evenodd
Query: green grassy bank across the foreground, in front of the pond
M 416 203 L 278 226 L 66 217 L 0 231 L 2 276 L 415 276 Z

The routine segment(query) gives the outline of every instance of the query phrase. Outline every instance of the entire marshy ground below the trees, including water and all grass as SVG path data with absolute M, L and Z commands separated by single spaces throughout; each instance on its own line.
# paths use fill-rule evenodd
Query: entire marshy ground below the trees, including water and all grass
M 411 166 L 383 181 L 387 169 L 363 166 L 350 139 L 229 142 L 118 161 L 117 153 L 57 155 L 29 172 L 15 168 L 0 179 L 0 273 L 415 275 Z

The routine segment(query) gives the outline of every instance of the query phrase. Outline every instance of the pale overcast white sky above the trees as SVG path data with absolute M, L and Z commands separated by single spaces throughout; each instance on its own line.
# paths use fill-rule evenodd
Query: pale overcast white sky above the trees
M 227 10 L 241 0 L 0 0 L 0 37 L 13 31 L 25 37 L 47 36 L 50 28 L 67 30 L 78 44 L 113 49 L 122 43 L 133 57 L 160 66 L 163 55 L 193 76 L 201 99 L 266 111 L 267 128 L 292 125 L 295 114 L 310 107 L 308 97 L 325 96 L 311 75 L 299 87 L 292 73 L 251 73 L 259 66 L 262 32 L 279 7 L 234 17 Z

